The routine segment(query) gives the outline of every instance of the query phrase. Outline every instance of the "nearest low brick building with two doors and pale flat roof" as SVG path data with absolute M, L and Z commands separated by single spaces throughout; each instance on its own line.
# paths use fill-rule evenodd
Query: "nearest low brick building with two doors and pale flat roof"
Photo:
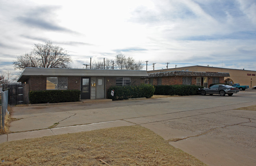
M 140 85 L 145 70 L 96 70 L 74 68 L 25 68 L 17 82 L 29 90 L 81 90 L 81 99 L 107 98 L 115 85 Z

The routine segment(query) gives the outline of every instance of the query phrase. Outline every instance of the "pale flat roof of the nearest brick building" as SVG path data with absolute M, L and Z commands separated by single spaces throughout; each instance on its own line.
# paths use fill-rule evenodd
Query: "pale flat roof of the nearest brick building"
M 81 69 L 81 68 L 33 68 L 27 67 L 20 75 L 17 82 L 22 82 L 30 76 L 148 76 L 146 70 L 104 70 L 104 69 Z

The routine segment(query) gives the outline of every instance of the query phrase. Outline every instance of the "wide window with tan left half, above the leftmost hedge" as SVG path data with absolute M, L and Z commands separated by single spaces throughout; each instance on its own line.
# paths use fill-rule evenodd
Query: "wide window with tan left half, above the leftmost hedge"
M 68 77 L 46 77 L 46 89 L 68 89 Z

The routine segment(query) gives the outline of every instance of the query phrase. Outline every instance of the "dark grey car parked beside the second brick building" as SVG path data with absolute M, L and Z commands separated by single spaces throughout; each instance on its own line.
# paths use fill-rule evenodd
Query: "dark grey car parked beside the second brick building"
M 222 84 L 216 84 L 212 85 L 210 88 L 203 88 L 199 89 L 200 94 L 206 95 L 206 94 L 219 94 L 221 96 L 225 96 L 228 94 L 228 96 L 232 96 L 234 93 L 238 93 L 238 88 L 231 87 L 229 85 L 222 85 Z

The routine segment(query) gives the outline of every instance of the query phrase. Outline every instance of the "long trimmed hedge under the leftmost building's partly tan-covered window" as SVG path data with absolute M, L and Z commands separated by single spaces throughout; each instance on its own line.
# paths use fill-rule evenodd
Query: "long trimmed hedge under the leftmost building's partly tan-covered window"
M 80 90 L 31 90 L 28 94 L 31 104 L 62 103 L 80 100 Z

